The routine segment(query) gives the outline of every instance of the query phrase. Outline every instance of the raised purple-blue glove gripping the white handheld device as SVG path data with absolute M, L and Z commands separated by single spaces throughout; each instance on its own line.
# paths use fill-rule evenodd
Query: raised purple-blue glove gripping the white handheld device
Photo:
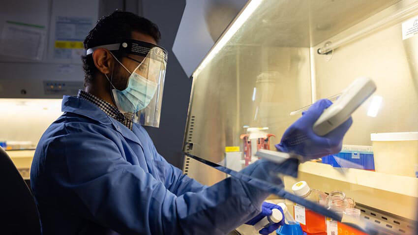
M 280 144 L 276 145 L 277 150 L 297 153 L 305 161 L 338 153 L 343 137 L 353 123 L 351 117 L 325 136 L 318 136 L 313 131 L 315 121 L 331 104 L 328 99 L 321 99 L 302 113 L 302 117 L 285 131 Z

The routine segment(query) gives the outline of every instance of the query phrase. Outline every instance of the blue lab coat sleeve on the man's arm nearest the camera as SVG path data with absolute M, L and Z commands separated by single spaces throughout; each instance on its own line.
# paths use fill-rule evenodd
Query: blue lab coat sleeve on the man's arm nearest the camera
M 120 234 L 225 234 L 256 216 L 268 195 L 229 177 L 177 196 L 101 133 L 66 132 L 45 147 L 60 206 Z

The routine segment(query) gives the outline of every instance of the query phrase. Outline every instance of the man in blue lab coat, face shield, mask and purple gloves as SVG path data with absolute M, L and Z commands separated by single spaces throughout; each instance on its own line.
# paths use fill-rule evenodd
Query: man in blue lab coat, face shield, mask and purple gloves
M 225 234 L 278 207 L 263 203 L 268 192 L 233 177 L 202 185 L 157 153 L 141 124 L 159 122 L 167 62 L 159 38 L 156 25 L 128 12 L 102 18 L 87 36 L 86 88 L 63 97 L 64 114 L 45 131 L 32 162 L 44 235 Z M 327 138 L 312 137 L 329 105 L 316 103 L 277 147 L 308 158 L 308 146 L 338 152 L 351 119 Z M 278 169 L 260 160 L 242 173 L 278 184 L 270 174 Z

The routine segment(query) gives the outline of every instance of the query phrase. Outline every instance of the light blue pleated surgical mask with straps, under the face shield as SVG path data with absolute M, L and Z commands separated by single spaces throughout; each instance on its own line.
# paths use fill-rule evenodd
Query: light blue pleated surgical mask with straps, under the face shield
M 114 58 L 116 59 L 116 57 Z M 119 62 L 118 59 L 116 60 Z M 124 90 L 118 90 L 115 87 L 112 89 L 116 106 L 120 111 L 129 113 L 145 109 L 154 97 L 158 84 L 135 72 L 141 64 L 132 73 L 122 63 L 120 65 L 131 75 L 128 78 L 128 86 Z

